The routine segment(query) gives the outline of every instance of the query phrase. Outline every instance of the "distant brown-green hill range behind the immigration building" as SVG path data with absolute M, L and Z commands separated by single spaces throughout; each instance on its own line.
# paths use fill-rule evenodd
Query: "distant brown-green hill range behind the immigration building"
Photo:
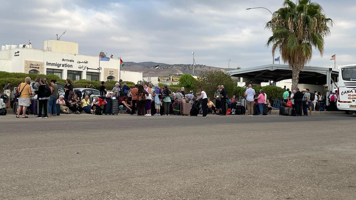
M 193 65 L 192 64 L 166 64 L 166 63 L 155 63 L 155 62 L 125 62 L 124 67 L 121 70 L 131 71 L 131 72 L 142 72 L 146 77 L 159 77 L 168 76 L 171 74 L 192 74 Z M 159 65 L 158 69 L 155 66 Z M 219 67 L 211 67 L 206 65 L 194 65 L 194 74 L 199 75 L 202 70 L 220 70 L 227 71 L 227 69 Z M 231 70 L 231 68 L 230 68 Z

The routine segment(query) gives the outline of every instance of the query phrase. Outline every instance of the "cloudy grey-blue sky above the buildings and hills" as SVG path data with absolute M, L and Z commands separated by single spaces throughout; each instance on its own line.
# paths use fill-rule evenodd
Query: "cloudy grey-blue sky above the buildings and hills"
M 0 43 L 56 39 L 78 42 L 79 53 L 98 55 L 103 50 L 124 62 L 195 62 L 214 67 L 253 67 L 272 63 L 271 35 L 264 29 L 282 0 L 32 0 L 1 1 Z M 355 64 L 356 4 L 352 0 L 316 0 L 336 24 L 325 40 L 323 57 L 314 51 L 309 65 Z M 278 53 L 276 55 L 278 57 Z M 281 63 L 282 64 L 282 63 Z

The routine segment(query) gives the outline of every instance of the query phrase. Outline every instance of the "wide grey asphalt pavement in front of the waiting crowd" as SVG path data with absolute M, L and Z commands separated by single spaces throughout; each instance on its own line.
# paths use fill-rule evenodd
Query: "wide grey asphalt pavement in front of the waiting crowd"
M 0 199 L 356 199 L 355 115 L 0 116 Z

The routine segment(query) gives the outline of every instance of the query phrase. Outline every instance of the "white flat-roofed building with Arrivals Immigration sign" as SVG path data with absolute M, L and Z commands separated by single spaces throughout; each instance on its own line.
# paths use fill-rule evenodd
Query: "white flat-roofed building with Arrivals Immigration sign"
M 142 80 L 142 73 L 126 72 L 127 78 L 120 77 L 120 59 L 100 61 L 99 56 L 79 54 L 78 43 L 46 40 L 43 49 L 33 49 L 30 44 L 2 45 L 0 70 L 31 74 L 54 74 L 70 80 Z M 99 54 L 99 52 L 98 52 Z M 141 78 L 140 78 L 141 74 Z M 133 80 L 135 79 L 135 80 Z M 138 79 L 138 80 L 136 80 Z

